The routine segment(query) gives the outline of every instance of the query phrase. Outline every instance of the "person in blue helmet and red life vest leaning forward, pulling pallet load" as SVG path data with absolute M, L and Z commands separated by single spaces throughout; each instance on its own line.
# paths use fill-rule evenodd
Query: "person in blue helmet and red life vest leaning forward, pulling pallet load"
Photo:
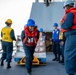
M 37 29 L 35 21 L 33 19 L 29 19 L 26 26 L 24 26 L 24 30 L 21 33 L 23 48 L 26 54 L 27 75 L 31 75 L 33 54 L 38 38 L 39 31 Z

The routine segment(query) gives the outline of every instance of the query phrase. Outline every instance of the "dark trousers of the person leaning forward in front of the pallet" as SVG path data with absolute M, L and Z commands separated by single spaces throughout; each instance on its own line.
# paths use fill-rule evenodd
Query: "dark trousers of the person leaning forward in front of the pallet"
M 33 60 L 35 46 L 30 47 L 30 46 L 23 45 L 23 47 L 24 47 L 24 52 L 26 55 L 26 69 L 29 73 L 31 73 L 32 60 Z

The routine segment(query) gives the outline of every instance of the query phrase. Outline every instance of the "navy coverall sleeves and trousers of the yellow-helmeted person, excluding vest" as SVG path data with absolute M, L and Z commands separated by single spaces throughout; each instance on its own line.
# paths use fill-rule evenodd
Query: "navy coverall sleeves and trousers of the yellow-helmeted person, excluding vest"
M 7 28 L 8 26 L 6 26 Z M 1 37 L 2 37 L 2 32 L 1 32 Z M 15 34 L 14 34 L 14 30 L 12 29 L 12 31 L 10 32 L 10 36 L 13 40 L 16 41 L 15 38 Z M 2 53 L 2 57 L 1 59 L 4 61 L 6 59 L 6 62 L 11 62 L 12 59 L 12 52 L 13 52 L 13 42 L 5 42 L 2 41 L 2 49 L 3 49 L 3 53 Z

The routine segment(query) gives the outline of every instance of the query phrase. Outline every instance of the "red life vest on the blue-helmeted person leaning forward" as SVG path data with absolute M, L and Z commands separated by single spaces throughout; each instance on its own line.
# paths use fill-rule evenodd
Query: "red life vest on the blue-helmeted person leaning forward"
M 30 32 L 27 26 L 24 26 L 24 32 L 25 32 L 25 38 L 23 39 L 23 42 L 27 46 L 36 46 L 39 33 L 37 30 L 37 27 L 34 29 L 34 31 Z

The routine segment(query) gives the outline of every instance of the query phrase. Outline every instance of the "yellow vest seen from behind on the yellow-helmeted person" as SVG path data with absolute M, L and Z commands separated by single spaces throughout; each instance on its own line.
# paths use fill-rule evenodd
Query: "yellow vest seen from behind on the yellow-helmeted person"
M 13 40 L 11 39 L 11 36 L 10 36 L 11 30 L 12 30 L 12 28 L 10 28 L 10 27 L 2 28 L 2 30 L 1 30 L 1 32 L 2 32 L 2 41 L 13 42 Z

